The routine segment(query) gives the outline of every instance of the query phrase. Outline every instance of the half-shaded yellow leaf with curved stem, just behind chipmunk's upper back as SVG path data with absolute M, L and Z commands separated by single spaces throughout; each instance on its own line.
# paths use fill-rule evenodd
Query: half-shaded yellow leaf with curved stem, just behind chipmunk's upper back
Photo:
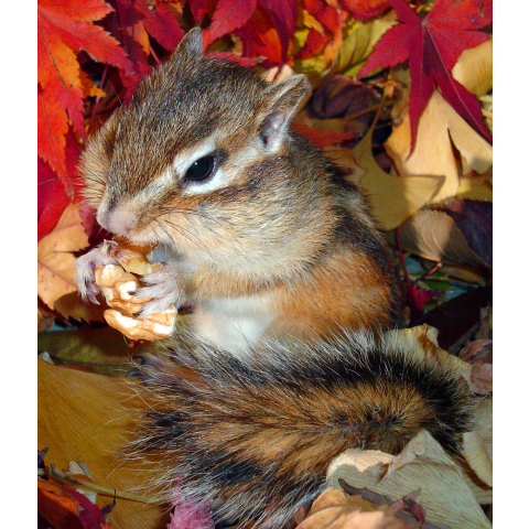
M 414 212 L 436 195 L 442 176 L 395 176 L 377 164 L 371 152 L 373 130 L 353 150 L 356 161 L 365 170 L 360 187 L 367 193 L 371 213 L 382 229 L 400 226 Z

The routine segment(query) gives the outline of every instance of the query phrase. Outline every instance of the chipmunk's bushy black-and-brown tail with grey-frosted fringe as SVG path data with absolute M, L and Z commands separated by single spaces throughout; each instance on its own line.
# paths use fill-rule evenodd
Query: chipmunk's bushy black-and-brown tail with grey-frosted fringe
M 347 449 L 398 453 L 427 429 L 455 453 L 472 399 L 456 369 L 397 333 L 256 353 L 251 367 L 197 346 L 194 376 L 144 368 L 150 408 L 136 454 L 216 515 L 282 529 Z M 198 374 L 198 375 L 197 375 Z

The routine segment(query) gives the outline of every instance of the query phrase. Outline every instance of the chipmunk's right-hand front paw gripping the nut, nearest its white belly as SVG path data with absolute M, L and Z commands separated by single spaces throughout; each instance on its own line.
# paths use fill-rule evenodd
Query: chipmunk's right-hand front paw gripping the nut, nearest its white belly
M 148 298 L 139 317 L 149 316 L 168 310 L 171 305 L 176 309 L 183 303 L 183 285 L 180 273 L 170 266 L 164 266 L 141 279 L 142 284 L 134 295 Z

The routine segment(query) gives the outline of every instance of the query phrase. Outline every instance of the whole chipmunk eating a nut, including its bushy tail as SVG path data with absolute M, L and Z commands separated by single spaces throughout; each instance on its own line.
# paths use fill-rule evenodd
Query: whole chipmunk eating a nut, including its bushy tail
M 83 154 L 99 224 L 165 263 L 137 292 L 152 299 L 143 314 L 193 304 L 175 367 L 140 368 L 148 404 L 127 452 L 214 501 L 218 522 L 283 529 L 344 450 L 397 453 L 427 429 L 457 456 L 478 421 L 450 364 L 387 331 L 399 291 L 384 239 L 290 128 L 306 78 L 269 84 L 202 48 L 192 30 Z M 77 260 L 85 298 L 111 261 L 100 248 Z

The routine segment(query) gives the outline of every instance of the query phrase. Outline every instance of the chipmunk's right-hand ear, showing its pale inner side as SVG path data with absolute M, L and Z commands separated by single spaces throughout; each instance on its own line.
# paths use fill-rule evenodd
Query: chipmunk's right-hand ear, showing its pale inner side
M 281 144 L 290 120 L 311 94 L 311 84 L 304 75 L 293 75 L 270 85 L 264 90 L 266 117 L 261 125 L 261 140 L 267 150 Z

